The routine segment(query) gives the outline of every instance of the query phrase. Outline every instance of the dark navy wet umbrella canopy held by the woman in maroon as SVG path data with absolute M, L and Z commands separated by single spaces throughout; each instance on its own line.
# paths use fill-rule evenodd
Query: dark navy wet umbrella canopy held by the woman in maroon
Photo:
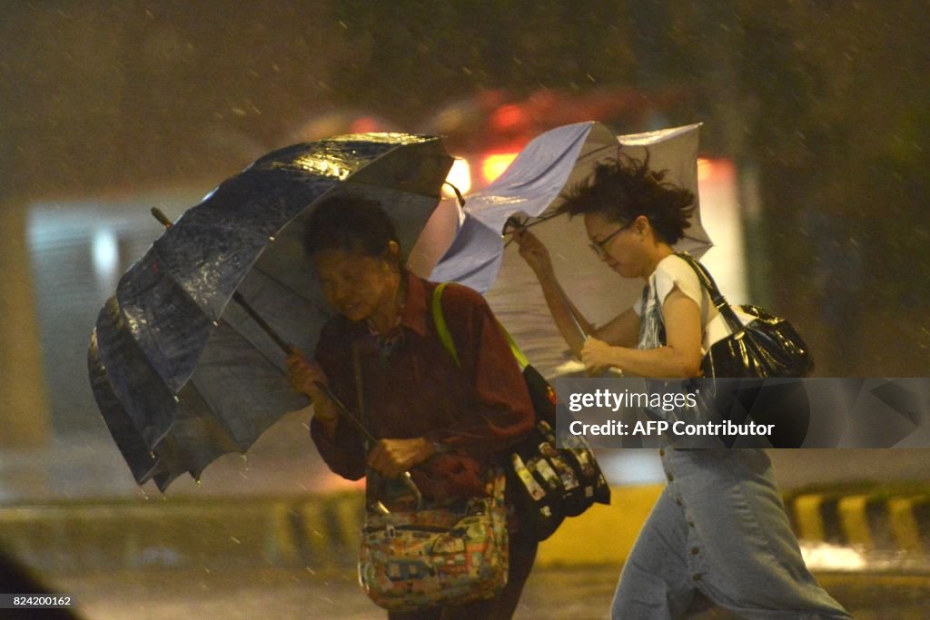
M 412 248 L 451 165 L 441 140 L 426 136 L 291 146 L 224 181 L 153 243 L 100 311 L 87 358 L 136 481 L 164 490 L 182 473 L 198 478 L 308 404 L 259 323 L 311 351 L 330 316 L 301 244 L 314 205 L 334 190 L 377 199 Z

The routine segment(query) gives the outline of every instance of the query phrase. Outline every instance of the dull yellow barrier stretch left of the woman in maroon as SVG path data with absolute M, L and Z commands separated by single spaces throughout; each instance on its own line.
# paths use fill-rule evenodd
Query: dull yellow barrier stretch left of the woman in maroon
M 346 565 L 360 494 L 0 508 L 0 548 L 46 573 Z M 352 558 L 354 561 L 354 558 Z

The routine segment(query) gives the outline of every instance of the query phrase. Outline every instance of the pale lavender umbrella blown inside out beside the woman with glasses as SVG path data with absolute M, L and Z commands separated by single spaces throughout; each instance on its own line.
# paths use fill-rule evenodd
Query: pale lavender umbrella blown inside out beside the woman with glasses
M 556 127 L 529 142 L 504 173 L 481 191 L 467 196 L 465 219 L 452 245 L 437 263 L 431 278 L 472 286 L 496 297 L 495 310 L 506 322 L 509 312 L 520 311 L 526 321 L 525 290 L 532 274 L 521 271 L 515 247 L 508 248 L 502 233 L 514 221 L 533 227 L 547 245 L 553 267 L 568 297 L 594 323 L 612 318 L 631 306 L 642 293 L 642 283 L 623 284 L 591 252 L 582 218 L 552 217 L 566 188 L 587 178 L 607 158 L 627 155 L 643 160 L 654 170 L 667 170 L 667 180 L 694 192 L 697 201 L 697 137 L 700 125 L 686 125 L 642 134 L 615 136 L 605 125 L 578 123 Z M 700 257 L 711 239 L 700 221 L 699 205 L 674 245 Z M 515 264 L 514 264 L 515 263 Z M 501 267 L 507 282 L 494 286 Z M 514 280 L 520 280 L 517 285 Z M 525 282 L 524 282 L 525 281 Z M 493 304 L 494 305 L 494 304 Z M 519 330 L 517 330 L 519 331 Z M 544 365 L 544 364 L 542 364 Z

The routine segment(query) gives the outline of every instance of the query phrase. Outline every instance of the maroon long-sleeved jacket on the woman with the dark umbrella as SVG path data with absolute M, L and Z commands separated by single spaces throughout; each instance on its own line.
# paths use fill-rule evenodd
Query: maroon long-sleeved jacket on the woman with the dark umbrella
M 391 354 L 379 356 L 378 336 L 364 322 L 339 315 L 324 326 L 316 362 L 329 386 L 358 413 L 352 344 L 362 369 L 365 428 L 379 439 L 426 437 L 475 457 L 491 457 L 518 442 L 534 424 L 533 405 L 494 315 L 484 297 L 451 284 L 443 292 L 443 315 L 459 368 L 432 322 L 436 284 L 408 275 L 402 336 Z M 351 422 L 340 419 L 335 440 L 311 422 L 311 436 L 333 471 L 358 480 L 365 475 L 365 449 Z

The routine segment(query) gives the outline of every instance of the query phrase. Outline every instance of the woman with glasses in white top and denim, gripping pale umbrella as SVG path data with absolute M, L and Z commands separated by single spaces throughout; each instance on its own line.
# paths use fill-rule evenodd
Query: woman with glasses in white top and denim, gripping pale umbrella
M 688 226 L 694 195 L 650 170 L 648 160 L 611 160 L 560 209 L 584 217 L 591 248 L 607 267 L 646 286 L 639 303 L 595 329 L 566 306 L 545 246 L 529 231 L 514 233 L 586 368 L 699 376 L 705 327 L 717 310 L 671 247 Z M 570 311 L 594 337 L 578 334 Z M 709 601 L 747 618 L 850 617 L 804 566 L 764 451 L 666 449 L 659 456 L 667 485 L 623 567 L 613 618 L 680 618 Z

